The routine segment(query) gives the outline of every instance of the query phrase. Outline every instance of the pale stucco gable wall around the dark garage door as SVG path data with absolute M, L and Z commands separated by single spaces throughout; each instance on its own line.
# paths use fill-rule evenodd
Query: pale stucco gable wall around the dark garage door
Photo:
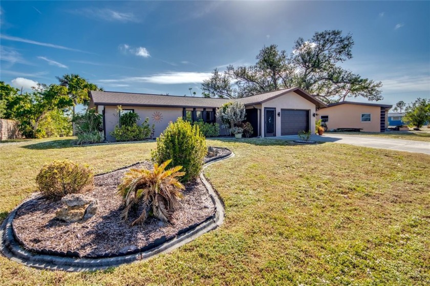
M 276 116 L 276 134 L 275 136 L 281 136 L 281 117 L 278 116 L 278 112 L 281 112 L 281 109 L 303 109 L 310 110 L 310 118 L 309 118 L 309 127 L 312 130 L 315 130 L 315 118 L 312 117 L 312 114 L 315 113 L 315 104 L 310 102 L 309 100 L 299 96 L 298 94 L 291 92 L 287 93 L 283 96 L 274 98 L 270 101 L 264 102 L 262 104 L 262 132 L 261 135 L 264 137 L 264 108 L 276 108 L 275 116 Z M 307 131 L 307 130 L 305 130 Z

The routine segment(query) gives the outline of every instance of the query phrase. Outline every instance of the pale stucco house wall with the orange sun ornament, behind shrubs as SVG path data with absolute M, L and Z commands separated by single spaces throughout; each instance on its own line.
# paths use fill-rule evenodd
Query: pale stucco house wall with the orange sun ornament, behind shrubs
M 149 124 L 155 124 L 155 137 L 166 129 L 170 121 L 175 122 L 178 117 L 182 117 L 183 109 L 180 107 L 145 107 L 145 106 L 125 106 L 122 109 L 134 109 L 134 112 L 139 114 L 140 120 L 138 124 L 142 124 L 145 118 L 149 118 Z M 155 113 L 158 112 L 162 119 L 159 122 L 154 120 Z M 110 135 L 115 126 L 119 124 L 118 111 L 116 106 L 105 106 L 104 110 L 105 124 L 106 124 L 106 140 L 115 141 L 115 138 Z

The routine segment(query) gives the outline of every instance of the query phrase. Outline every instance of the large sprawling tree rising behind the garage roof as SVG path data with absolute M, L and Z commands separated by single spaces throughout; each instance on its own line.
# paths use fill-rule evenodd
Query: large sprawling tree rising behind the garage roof
M 276 45 L 263 47 L 249 67 L 232 65 L 202 83 L 203 96 L 239 98 L 287 87 L 301 87 L 327 103 L 348 97 L 381 100 L 381 82 L 361 78 L 338 64 L 352 58 L 354 41 L 339 30 L 315 32 L 307 41 L 298 38 L 287 57 Z

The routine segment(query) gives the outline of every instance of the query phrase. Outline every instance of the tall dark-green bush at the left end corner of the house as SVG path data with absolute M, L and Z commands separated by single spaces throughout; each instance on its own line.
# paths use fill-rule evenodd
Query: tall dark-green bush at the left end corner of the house
M 75 133 L 78 138 L 77 144 L 99 143 L 104 140 L 103 118 L 96 109 L 89 109 L 85 114 L 76 114 L 73 117 L 75 123 Z

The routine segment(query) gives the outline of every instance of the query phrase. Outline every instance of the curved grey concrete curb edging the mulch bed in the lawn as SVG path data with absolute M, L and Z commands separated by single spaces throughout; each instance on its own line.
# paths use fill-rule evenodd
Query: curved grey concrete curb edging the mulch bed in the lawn
M 214 157 L 203 165 L 203 169 L 215 162 L 229 159 L 233 156 L 234 153 L 230 151 L 229 154 L 220 157 Z M 224 206 L 220 197 L 212 188 L 212 185 L 204 177 L 203 171 L 200 173 L 200 179 L 205 185 L 215 205 L 215 214 L 207 221 L 199 225 L 192 225 L 188 227 L 184 230 L 185 232 L 178 234 L 171 240 L 166 241 L 160 238 L 158 245 L 154 244 L 151 249 L 133 254 L 125 254 L 122 256 L 101 258 L 76 258 L 73 257 L 72 253 L 70 253 L 70 257 L 61 257 L 55 254 L 37 254 L 27 251 L 19 245 L 13 233 L 12 227 L 13 218 L 15 217 L 19 207 L 25 203 L 23 202 L 8 215 L 0 227 L 0 237 L 2 238 L 0 240 L 0 252 L 10 260 L 22 263 L 29 267 L 46 270 L 63 270 L 69 272 L 104 270 L 122 265 L 124 263 L 146 260 L 160 253 L 168 253 L 186 243 L 189 243 L 202 234 L 221 226 L 224 222 Z M 31 199 L 34 199 L 34 197 Z

